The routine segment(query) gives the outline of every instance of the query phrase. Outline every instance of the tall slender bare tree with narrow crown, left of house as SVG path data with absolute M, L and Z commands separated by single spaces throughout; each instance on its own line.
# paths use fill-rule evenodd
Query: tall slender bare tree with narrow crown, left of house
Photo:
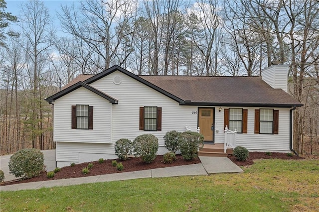
M 38 140 L 39 148 L 44 149 L 44 140 L 42 133 L 42 103 L 40 75 L 43 72 L 43 63 L 47 59 L 47 50 L 51 47 L 51 39 L 54 34 L 51 28 L 52 18 L 48 9 L 42 1 L 31 0 L 22 5 L 20 27 L 22 34 L 27 40 L 27 45 L 23 46 L 26 52 L 28 68 L 33 69 L 30 76 L 32 97 L 31 108 L 32 117 L 29 119 L 31 125 L 32 147 L 36 147 Z

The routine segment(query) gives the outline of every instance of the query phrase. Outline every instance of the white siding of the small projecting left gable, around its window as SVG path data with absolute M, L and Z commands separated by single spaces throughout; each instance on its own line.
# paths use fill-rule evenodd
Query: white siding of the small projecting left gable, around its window
M 71 129 L 72 105 L 94 106 L 94 129 Z M 54 141 L 111 143 L 112 104 L 87 90 L 79 88 L 54 102 Z

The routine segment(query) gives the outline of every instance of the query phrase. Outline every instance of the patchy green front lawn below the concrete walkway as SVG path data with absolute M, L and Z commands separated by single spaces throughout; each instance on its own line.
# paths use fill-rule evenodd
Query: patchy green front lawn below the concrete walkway
M 1 192 L 0 211 L 318 211 L 319 160 L 258 160 L 241 174 Z

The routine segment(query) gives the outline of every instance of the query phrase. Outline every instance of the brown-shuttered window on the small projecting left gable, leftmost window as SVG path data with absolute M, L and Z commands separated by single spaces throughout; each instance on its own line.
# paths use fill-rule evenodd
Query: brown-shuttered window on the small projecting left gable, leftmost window
M 93 129 L 93 106 L 72 106 L 72 129 Z

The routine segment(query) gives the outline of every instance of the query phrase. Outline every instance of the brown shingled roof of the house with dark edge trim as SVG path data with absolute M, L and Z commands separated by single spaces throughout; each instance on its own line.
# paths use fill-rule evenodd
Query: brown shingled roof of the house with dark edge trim
M 64 89 L 82 81 L 91 84 L 115 71 L 134 78 L 180 105 L 302 106 L 282 89 L 272 88 L 261 77 L 137 76 L 119 66 L 113 66 L 97 75 L 79 75 Z

